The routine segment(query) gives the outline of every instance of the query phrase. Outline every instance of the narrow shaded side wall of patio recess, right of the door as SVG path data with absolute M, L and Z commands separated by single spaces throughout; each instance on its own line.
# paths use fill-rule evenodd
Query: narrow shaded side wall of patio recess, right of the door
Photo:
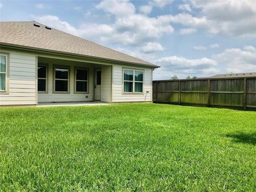
M 111 66 L 101 67 L 101 101 L 111 102 Z

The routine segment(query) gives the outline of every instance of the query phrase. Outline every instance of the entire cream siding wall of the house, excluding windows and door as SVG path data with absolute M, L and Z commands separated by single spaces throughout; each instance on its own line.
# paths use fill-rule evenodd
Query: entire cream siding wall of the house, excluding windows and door
M 149 67 L 119 65 L 110 62 L 89 63 L 86 59 L 66 56 L 55 57 L 16 49 L 1 49 L 9 53 L 9 93 L 0 93 L 0 105 L 36 105 L 37 102 L 71 102 L 94 100 L 94 69 L 101 68 L 101 101 L 104 102 L 151 102 L 152 70 Z M 83 62 L 84 61 L 84 62 Z M 98 63 L 97 63 L 98 62 Z M 103 62 L 103 61 L 102 61 Z M 47 65 L 47 93 L 37 93 L 37 63 Z M 69 93 L 53 93 L 53 65 L 69 66 Z M 89 93 L 74 93 L 74 68 L 89 69 Z M 144 71 L 143 93 L 123 93 L 123 68 Z M 149 91 L 149 93 L 146 93 Z

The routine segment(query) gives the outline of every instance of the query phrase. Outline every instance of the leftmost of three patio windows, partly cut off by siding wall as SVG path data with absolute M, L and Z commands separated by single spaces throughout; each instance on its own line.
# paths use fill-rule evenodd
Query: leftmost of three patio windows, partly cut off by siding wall
M 39 64 L 37 67 L 37 90 L 40 92 L 46 92 L 47 84 L 47 67 Z

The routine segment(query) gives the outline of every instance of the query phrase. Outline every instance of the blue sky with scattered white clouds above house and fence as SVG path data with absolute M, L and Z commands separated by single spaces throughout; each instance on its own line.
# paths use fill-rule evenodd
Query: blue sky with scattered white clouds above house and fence
M 154 79 L 256 71 L 256 1 L 0 1 L 37 21 L 161 66 Z

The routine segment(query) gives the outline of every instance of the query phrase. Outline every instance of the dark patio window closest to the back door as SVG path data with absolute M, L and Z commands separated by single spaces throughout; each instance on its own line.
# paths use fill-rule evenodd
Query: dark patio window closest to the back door
M 88 70 L 75 69 L 75 92 L 87 93 L 88 92 Z

